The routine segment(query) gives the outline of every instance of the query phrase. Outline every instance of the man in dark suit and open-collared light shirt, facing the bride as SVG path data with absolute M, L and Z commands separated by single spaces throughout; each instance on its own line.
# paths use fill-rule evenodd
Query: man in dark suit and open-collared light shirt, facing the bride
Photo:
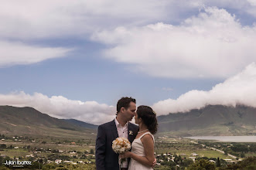
M 135 116 L 136 100 L 122 97 L 117 104 L 117 117 L 113 121 L 101 124 L 97 130 L 96 168 L 97 170 L 119 170 L 118 154 L 112 150 L 112 141 L 118 137 L 128 138 L 132 142 L 138 132 L 138 126 L 131 124 Z M 128 162 L 123 162 L 121 169 L 128 169 Z

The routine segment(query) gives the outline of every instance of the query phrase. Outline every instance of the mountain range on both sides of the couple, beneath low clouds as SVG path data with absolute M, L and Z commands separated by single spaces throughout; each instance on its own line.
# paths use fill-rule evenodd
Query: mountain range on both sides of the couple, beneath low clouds
M 97 125 L 75 119 L 58 119 L 32 107 L 0 106 L 1 134 L 31 134 L 58 138 L 95 138 Z M 220 136 L 256 133 L 256 108 L 207 105 L 186 113 L 157 117 L 158 135 Z

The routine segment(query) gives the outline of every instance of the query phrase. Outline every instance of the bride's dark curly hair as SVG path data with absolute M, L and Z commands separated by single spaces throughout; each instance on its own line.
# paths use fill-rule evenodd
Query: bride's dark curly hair
M 148 106 L 139 106 L 137 109 L 138 118 L 142 118 L 143 123 L 148 127 L 148 131 L 155 134 L 157 131 L 157 120 L 155 111 Z

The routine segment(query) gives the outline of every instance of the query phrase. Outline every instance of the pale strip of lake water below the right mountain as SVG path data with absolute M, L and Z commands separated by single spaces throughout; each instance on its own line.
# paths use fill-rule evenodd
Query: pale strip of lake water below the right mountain
M 193 136 L 184 138 L 229 142 L 256 142 L 256 136 Z

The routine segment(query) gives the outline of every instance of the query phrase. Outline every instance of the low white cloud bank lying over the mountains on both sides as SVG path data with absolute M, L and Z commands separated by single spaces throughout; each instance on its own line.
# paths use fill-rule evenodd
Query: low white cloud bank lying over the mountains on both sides
M 241 73 L 231 76 L 209 91 L 191 90 L 175 99 L 161 100 L 152 105 L 158 115 L 200 109 L 207 104 L 256 107 L 256 64 L 251 63 Z M 34 107 L 57 118 L 74 118 L 91 124 L 102 124 L 115 117 L 116 109 L 96 101 L 68 100 L 62 96 L 47 97 L 42 93 L 24 92 L 0 94 L 0 105 Z M 147 104 L 145 104 L 147 105 Z

